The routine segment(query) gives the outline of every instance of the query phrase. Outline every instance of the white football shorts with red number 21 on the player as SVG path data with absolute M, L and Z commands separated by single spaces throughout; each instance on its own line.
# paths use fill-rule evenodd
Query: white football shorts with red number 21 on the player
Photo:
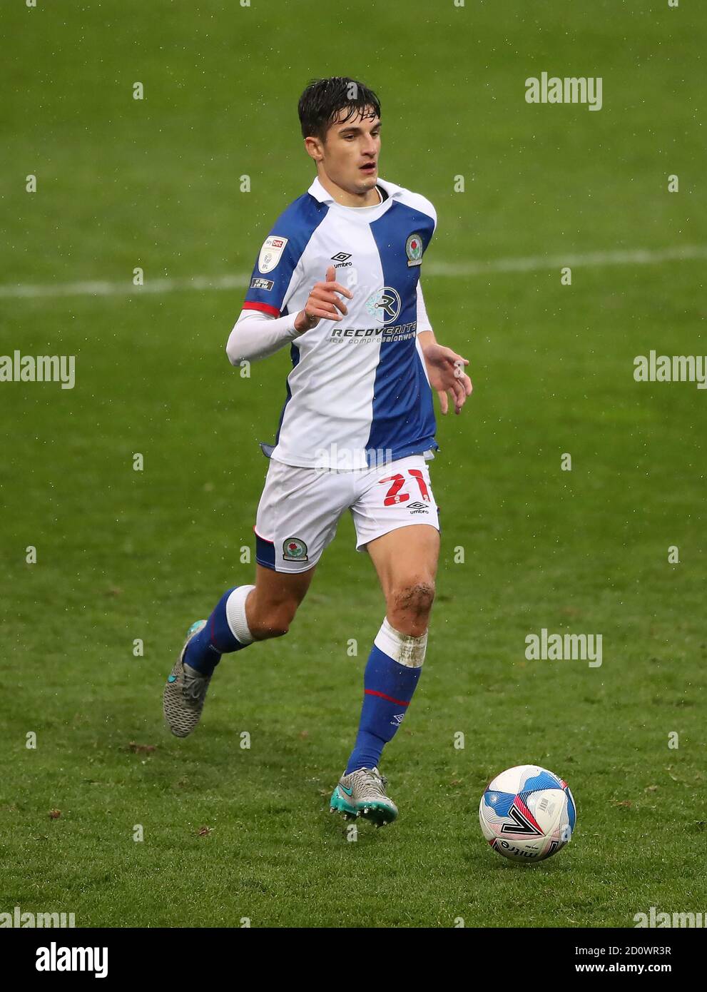
M 357 552 L 411 524 L 439 530 L 421 454 L 347 471 L 299 468 L 271 459 L 253 528 L 256 560 L 275 571 L 307 571 L 333 541 L 345 510 L 353 517 Z

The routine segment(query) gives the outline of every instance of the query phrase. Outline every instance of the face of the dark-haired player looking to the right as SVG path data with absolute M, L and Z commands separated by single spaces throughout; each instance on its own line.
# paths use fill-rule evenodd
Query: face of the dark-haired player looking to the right
M 339 117 L 344 117 L 341 111 Z M 378 180 L 381 121 L 374 111 L 335 121 L 320 145 L 321 166 L 328 178 L 347 192 L 362 194 Z

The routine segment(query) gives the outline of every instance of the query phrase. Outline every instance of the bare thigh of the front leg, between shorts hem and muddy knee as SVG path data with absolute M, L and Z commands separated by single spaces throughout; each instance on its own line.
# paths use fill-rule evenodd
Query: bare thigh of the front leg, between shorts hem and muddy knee
M 439 559 L 439 531 L 429 524 L 398 527 L 369 541 L 373 561 L 386 600 L 396 595 L 425 599 L 433 595 Z

